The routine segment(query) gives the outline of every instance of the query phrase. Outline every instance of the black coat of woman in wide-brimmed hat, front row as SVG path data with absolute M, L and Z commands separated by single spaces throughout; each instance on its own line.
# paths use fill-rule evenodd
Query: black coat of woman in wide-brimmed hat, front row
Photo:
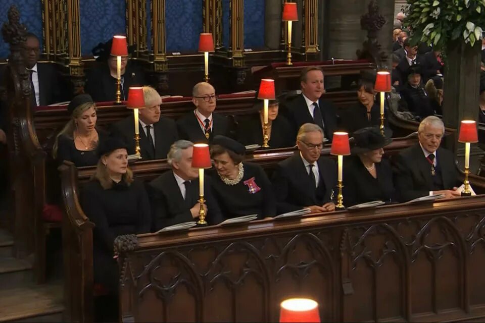
M 393 170 L 387 159 L 375 164 L 373 178 L 358 156 L 352 156 L 344 167 L 344 204 L 352 206 L 371 201 L 396 202 Z

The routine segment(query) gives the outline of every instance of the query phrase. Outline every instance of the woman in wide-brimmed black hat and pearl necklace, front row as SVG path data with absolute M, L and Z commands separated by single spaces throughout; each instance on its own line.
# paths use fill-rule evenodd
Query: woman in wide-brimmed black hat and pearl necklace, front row
M 344 201 L 346 206 L 370 202 L 395 202 L 393 172 L 389 160 L 382 159 L 383 147 L 392 139 L 378 128 L 367 127 L 354 133 L 353 156 L 344 167 Z

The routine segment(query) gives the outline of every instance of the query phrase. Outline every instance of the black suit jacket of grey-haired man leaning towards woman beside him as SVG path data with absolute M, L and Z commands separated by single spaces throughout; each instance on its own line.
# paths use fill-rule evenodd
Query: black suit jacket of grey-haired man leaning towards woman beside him
M 153 210 L 153 228 L 158 231 L 175 224 L 196 221 L 192 218 L 192 208 L 199 198 L 199 179 L 191 181 L 189 195 L 183 199 L 173 172 L 165 172 L 150 182 L 150 196 Z M 187 194 L 187 192 L 186 192 Z M 190 201 L 187 197 L 190 196 Z M 212 193 L 210 177 L 204 177 L 204 199 L 207 205 L 206 221 L 210 225 L 222 222 L 222 213 Z

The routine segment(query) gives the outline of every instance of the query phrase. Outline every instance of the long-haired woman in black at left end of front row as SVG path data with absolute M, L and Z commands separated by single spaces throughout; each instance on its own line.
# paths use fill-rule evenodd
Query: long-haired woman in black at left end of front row
M 81 194 L 81 206 L 93 229 L 94 283 L 115 294 L 117 263 L 113 242 L 119 235 L 150 232 L 150 202 L 142 182 L 133 180 L 125 143 L 110 137 L 99 149 L 99 162 Z

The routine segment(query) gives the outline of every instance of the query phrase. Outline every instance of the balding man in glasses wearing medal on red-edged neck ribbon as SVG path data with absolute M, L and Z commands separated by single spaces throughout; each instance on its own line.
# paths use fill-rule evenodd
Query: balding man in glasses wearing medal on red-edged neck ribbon
M 209 83 L 200 82 L 193 87 L 192 102 L 196 110 L 177 121 L 181 139 L 196 143 L 210 143 L 217 135 L 228 135 L 227 118 L 214 113 L 216 99 L 215 89 Z

